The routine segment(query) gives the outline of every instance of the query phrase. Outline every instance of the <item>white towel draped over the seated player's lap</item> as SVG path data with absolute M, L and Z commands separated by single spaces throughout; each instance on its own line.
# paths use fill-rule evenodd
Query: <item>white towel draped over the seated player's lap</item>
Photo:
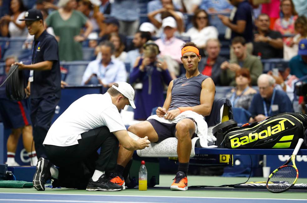
M 158 117 L 157 115 L 152 115 L 147 118 L 148 119 L 155 119 L 162 123 L 178 123 L 184 118 L 192 118 L 196 122 L 196 129 L 195 133 L 197 134 L 197 137 L 199 137 L 200 146 L 203 148 L 216 148 L 215 141 L 216 138 L 211 135 L 208 136 L 208 125 L 206 121 L 204 120 L 204 117 L 196 112 L 193 111 L 185 111 L 180 113 L 178 116 L 174 118 L 174 120 L 167 120 L 164 117 Z

